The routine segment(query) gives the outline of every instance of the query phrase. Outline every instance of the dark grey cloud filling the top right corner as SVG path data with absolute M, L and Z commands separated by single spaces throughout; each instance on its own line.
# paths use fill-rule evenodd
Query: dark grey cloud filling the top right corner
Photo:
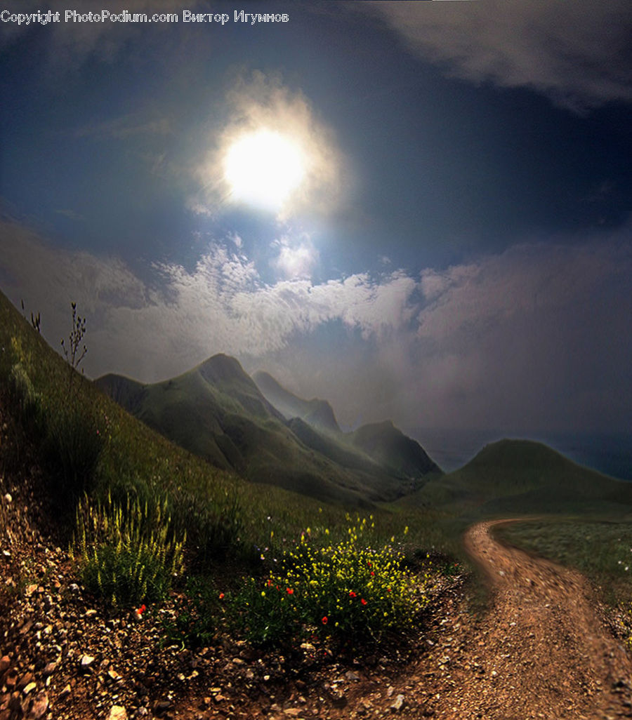
M 529 87 L 576 111 L 632 101 L 632 6 L 550 0 L 372 2 L 411 50 L 474 82 Z

